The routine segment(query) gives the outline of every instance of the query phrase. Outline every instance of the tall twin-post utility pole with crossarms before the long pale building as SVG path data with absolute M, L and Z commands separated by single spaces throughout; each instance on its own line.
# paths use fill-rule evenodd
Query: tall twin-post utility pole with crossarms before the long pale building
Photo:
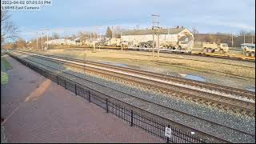
M 160 15 L 157 14 L 151 14 L 152 16 L 152 30 L 153 30 L 153 57 L 154 57 L 154 34 L 156 34 L 157 32 L 157 36 L 158 36 L 158 58 L 159 58 L 159 17 Z

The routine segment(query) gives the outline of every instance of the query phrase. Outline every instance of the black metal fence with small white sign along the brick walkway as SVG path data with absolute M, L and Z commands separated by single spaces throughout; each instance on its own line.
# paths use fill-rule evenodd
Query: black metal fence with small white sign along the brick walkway
M 54 74 L 49 70 L 40 68 L 39 66 L 35 66 L 30 62 L 26 62 L 21 58 L 17 58 L 16 56 L 10 54 L 12 58 L 18 60 L 22 64 L 30 67 L 30 69 L 42 74 L 45 78 L 49 78 L 53 82 L 58 83 L 58 85 L 63 86 L 66 90 L 70 90 L 74 92 L 74 94 L 81 96 L 88 100 L 88 102 L 92 102 L 103 109 L 106 110 L 106 113 L 111 113 L 117 116 L 118 118 L 122 118 L 124 121 L 128 122 L 130 126 L 136 126 L 141 128 L 142 130 L 157 136 L 158 138 L 162 138 L 166 140 L 166 142 L 175 142 L 175 143 L 205 143 L 204 140 L 200 138 L 196 138 L 190 132 L 185 130 L 180 130 L 177 127 L 170 126 L 170 124 L 166 122 L 161 122 L 157 120 L 157 118 L 151 118 L 150 116 L 146 115 L 150 112 L 143 111 L 138 112 L 136 110 L 127 108 L 125 106 L 120 105 L 117 102 L 111 101 L 113 98 L 109 98 L 100 96 L 94 93 L 94 90 L 89 90 L 86 86 L 82 86 L 77 82 L 74 82 L 68 78 L 63 78 L 58 74 Z M 115 99 L 118 101 L 117 99 Z M 120 101 L 121 102 L 121 101 Z M 129 106 L 133 107 L 133 106 Z M 171 138 L 166 138 L 165 130 L 166 127 L 171 129 Z

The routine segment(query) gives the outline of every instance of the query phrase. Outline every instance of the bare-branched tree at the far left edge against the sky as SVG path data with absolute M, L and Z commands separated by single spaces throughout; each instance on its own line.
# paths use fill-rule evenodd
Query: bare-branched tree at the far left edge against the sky
M 18 38 L 18 26 L 10 19 L 10 14 L 6 10 L 1 10 L 1 46 L 8 40 L 15 41 Z

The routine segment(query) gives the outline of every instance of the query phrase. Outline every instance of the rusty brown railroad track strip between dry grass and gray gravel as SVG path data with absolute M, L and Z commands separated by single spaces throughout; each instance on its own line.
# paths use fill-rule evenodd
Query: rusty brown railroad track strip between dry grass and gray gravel
M 49 54 L 22 53 L 46 58 L 54 62 L 61 62 L 67 66 L 74 66 L 80 69 L 86 66 L 86 70 L 90 70 L 94 74 L 100 74 L 102 77 L 107 76 L 108 78 L 118 79 L 118 81 L 137 83 L 138 86 L 146 87 L 149 90 L 170 94 L 178 98 L 202 103 L 206 106 L 214 106 L 221 110 L 232 111 L 236 114 L 255 117 L 255 94 L 247 90 L 234 89 L 228 86 L 222 87 L 207 82 L 187 80 L 185 78 L 175 78 L 164 74 L 151 74 L 143 70 L 121 68 L 96 62 L 83 62 L 77 59 L 63 58 Z

